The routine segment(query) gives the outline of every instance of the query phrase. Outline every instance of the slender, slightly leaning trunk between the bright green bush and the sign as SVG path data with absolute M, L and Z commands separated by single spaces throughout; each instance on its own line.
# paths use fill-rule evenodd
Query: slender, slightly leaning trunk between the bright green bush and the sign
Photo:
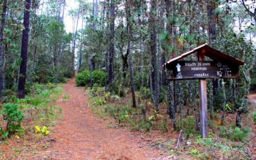
M 130 1 L 129 1 L 130 2 Z M 131 52 L 131 41 L 132 41 L 132 26 L 130 24 L 131 18 L 131 4 L 128 4 L 128 0 L 126 0 L 126 15 L 127 15 L 127 27 L 128 27 L 128 46 L 127 46 L 127 54 L 129 55 L 129 68 L 130 68 L 130 84 L 132 91 L 132 106 L 136 108 L 136 99 L 134 93 L 134 77 L 133 77 L 133 64 L 132 64 L 132 52 Z

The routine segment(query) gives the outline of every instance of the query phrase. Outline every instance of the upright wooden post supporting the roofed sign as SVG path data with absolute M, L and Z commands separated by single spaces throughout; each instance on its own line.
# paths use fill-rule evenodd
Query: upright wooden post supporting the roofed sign
M 204 60 L 205 50 L 201 50 L 198 54 L 198 60 Z M 207 120 L 207 88 L 206 79 L 199 79 L 199 95 L 200 95 L 200 133 L 202 138 L 208 136 L 208 120 Z

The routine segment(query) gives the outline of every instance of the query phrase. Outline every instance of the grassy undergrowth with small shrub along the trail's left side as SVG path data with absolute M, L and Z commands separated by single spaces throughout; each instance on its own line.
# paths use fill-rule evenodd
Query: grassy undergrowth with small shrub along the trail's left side
M 16 98 L 16 94 L 5 97 L 0 126 L 2 138 L 11 138 L 13 135 L 26 138 L 26 133 L 35 133 L 35 126 L 50 128 L 56 124 L 61 108 L 54 102 L 60 96 L 62 87 L 51 83 L 35 83 L 31 88 L 31 94 L 24 99 Z

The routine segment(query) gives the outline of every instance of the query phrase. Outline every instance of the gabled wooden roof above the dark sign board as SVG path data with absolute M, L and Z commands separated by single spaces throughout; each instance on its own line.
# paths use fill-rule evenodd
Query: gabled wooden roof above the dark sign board
M 193 50 L 183 53 L 178 57 L 172 58 L 171 60 L 167 61 L 163 66 L 170 64 L 176 60 L 185 58 L 186 56 L 189 56 L 190 54 L 193 54 L 195 52 L 200 52 L 200 54 L 204 54 L 205 56 L 208 56 L 209 58 L 212 58 L 213 60 L 217 60 L 217 61 L 228 60 L 234 64 L 244 65 L 243 61 L 240 61 L 234 57 L 228 56 L 227 54 L 224 54 L 218 50 L 215 50 L 214 48 L 211 48 L 210 46 L 208 46 L 208 44 L 206 43 L 206 44 L 203 44 L 201 46 L 194 48 Z

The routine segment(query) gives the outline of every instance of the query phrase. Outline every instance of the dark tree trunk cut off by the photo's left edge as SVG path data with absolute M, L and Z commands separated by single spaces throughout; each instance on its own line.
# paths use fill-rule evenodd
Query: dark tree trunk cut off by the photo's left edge
M 3 1 L 2 20 L 0 28 L 0 97 L 2 97 L 2 91 L 4 90 L 4 49 L 3 49 L 3 32 L 5 26 L 7 0 Z

